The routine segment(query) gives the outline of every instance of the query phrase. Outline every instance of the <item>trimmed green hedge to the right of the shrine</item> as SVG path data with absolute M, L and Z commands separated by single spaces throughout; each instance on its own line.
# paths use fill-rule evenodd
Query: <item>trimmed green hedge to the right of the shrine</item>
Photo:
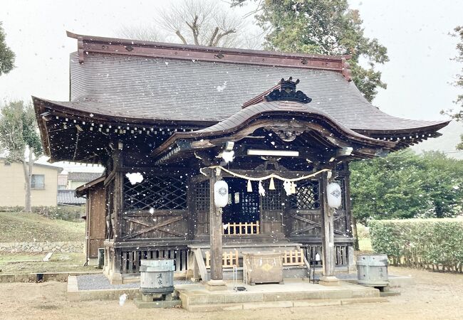
M 369 220 L 371 245 L 392 265 L 462 272 L 463 219 Z

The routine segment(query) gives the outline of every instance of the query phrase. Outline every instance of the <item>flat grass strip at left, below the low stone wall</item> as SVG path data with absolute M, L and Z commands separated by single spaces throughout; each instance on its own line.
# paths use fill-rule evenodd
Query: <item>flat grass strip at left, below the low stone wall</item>
M 1 274 L 96 271 L 93 266 L 83 266 L 85 263 L 83 253 L 55 253 L 48 262 L 43 262 L 41 260 L 45 255 L 46 252 L 41 254 L 2 254 L 0 257 Z

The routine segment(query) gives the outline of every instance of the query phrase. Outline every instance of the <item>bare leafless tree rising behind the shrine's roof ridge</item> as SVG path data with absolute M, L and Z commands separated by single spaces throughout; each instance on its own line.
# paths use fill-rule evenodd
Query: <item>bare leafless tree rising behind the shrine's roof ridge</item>
M 264 35 L 255 29 L 223 1 L 181 0 L 158 11 L 152 26 L 124 26 L 118 33 L 146 41 L 258 49 Z

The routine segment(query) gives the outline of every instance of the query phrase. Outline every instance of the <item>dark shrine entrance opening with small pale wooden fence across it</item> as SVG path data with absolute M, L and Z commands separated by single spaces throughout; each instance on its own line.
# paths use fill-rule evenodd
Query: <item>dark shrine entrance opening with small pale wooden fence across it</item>
M 260 233 L 260 197 L 258 192 L 247 191 L 247 181 L 241 178 L 224 178 L 229 186 L 228 206 L 223 208 L 224 234 Z M 251 182 L 257 191 L 258 183 Z

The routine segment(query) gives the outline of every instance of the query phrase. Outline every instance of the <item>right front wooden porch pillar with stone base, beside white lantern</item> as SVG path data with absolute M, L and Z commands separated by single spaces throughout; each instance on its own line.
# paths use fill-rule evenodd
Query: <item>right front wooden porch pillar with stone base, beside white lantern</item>
M 326 193 L 328 186 L 328 173 L 323 172 L 320 179 L 320 198 L 322 201 L 322 228 L 321 239 L 323 247 L 323 276 L 320 278 L 320 284 L 326 286 L 338 285 L 339 280 L 335 277 L 335 247 L 334 247 L 334 220 L 333 210 L 328 206 L 328 194 Z

